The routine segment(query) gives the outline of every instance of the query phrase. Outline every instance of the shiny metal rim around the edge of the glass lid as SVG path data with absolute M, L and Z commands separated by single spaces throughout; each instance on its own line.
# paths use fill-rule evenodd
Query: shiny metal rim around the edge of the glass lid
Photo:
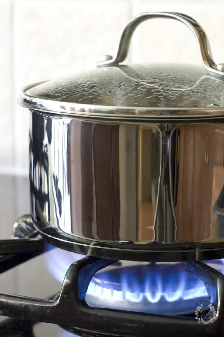
M 22 88 L 18 103 L 25 108 L 38 110 L 50 114 L 73 117 L 105 118 L 107 120 L 133 120 L 149 121 L 200 119 L 224 117 L 224 107 L 214 108 L 149 108 L 134 106 L 94 105 L 56 101 L 28 95 L 27 90 L 47 81 L 37 82 Z

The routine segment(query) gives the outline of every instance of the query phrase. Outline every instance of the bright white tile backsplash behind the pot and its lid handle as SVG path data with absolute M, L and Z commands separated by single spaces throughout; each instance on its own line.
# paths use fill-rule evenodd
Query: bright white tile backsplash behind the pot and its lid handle
M 0 0 L 0 173 L 28 174 L 29 113 L 16 103 L 20 88 L 115 55 L 125 23 L 144 11 L 192 16 L 206 30 L 215 61 L 224 62 L 223 0 Z M 127 61 L 200 63 L 200 56 L 186 26 L 157 19 L 137 28 Z

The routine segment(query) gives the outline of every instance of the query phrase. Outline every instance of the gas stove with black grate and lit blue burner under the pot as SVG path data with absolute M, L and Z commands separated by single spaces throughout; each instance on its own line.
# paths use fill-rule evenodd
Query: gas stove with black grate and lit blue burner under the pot
M 223 259 L 115 261 L 54 248 L 29 218 L 12 229 L 12 219 L 29 211 L 28 178 L 0 183 L 1 238 L 10 240 L 0 241 L 0 291 L 22 296 L 0 294 L 1 337 L 224 334 Z

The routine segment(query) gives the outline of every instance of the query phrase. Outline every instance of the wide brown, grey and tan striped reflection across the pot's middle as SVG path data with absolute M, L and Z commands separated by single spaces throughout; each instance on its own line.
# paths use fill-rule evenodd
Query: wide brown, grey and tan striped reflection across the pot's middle
M 76 144 L 70 147 L 72 232 L 78 228 L 78 235 L 97 240 L 154 240 L 159 129 L 77 120 L 70 127 Z

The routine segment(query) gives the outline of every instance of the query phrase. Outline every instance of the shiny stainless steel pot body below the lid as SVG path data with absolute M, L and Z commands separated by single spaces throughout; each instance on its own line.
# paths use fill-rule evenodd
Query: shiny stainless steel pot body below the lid
M 30 113 L 31 216 L 50 243 L 142 261 L 224 257 L 224 124 Z

